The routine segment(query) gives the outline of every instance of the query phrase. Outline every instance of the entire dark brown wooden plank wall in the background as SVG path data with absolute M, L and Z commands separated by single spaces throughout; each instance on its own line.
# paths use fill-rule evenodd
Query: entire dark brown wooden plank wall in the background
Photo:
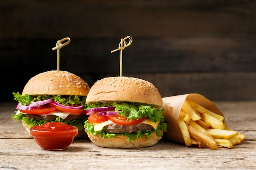
M 211 100 L 256 99 L 254 0 L 1 0 L 1 102 L 30 77 L 60 69 L 90 86 L 119 76 L 146 79 L 162 97 L 200 93 Z

